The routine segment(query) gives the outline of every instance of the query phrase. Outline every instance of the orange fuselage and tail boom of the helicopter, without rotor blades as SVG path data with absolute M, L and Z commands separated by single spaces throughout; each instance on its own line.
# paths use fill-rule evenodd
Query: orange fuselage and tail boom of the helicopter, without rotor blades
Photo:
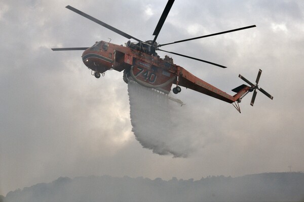
M 119 72 L 125 70 L 128 79 L 165 93 L 169 93 L 172 84 L 176 84 L 234 103 L 250 89 L 243 86 L 232 96 L 173 64 L 171 58 L 161 59 L 157 54 L 105 41 L 96 42 L 86 49 L 82 59 L 92 71 L 103 74 L 111 69 Z

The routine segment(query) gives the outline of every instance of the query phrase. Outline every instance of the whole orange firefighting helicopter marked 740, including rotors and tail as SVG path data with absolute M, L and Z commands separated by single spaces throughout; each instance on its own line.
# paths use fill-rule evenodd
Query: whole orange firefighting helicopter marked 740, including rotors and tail
M 177 94 L 181 91 L 181 87 L 186 87 L 193 89 L 195 91 L 207 94 L 214 98 L 223 100 L 224 102 L 233 104 L 233 106 L 241 113 L 239 103 L 242 98 L 248 93 L 253 91 L 253 96 L 251 98 L 250 105 L 253 106 L 254 100 L 257 94 L 256 90 L 259 90 L 269 98 L 273 99 L 273 96 L 268 92 L 258 87 L 258 81 L 261 76 L 261 70 L 259 70 L 257 74 L 257 78 L 255 84 L 251 83 L 242 75 L 239 77 L 248 83 L 250 86 L 242 84 L 232 91 L 236 92 L 235 95 L 227 94 L 226 92 L 214 87 L 213 85 L 203 81 L 202 79 L 194 76 L 192 73 L 185 70 L 183 67 L 180 67 L 173 63 L 173 59 L 165 56 L 165 58 L 160 58 L 156 51 L 163 51 L 169 54 L 178 55 L 181 57 L 201 61 L 204 63 L 208 63 L 211 65 L 215 65 L 221 68 L 226 68 L 225 66 L 212 63 L 209 61 L 201 60 L 198 58 L 189 57 L 186 55 L 168 52 L 163 49 L 160 49 L 161 46 L 185 42 L 189 40 L 195 40 L 199 38 L 239 31 L 243 29 L 249 29 L 256 27 L 255 25 L 242 27 L 238 29 L 232 29 L 228 31 L 198 36 L 195 38 L 188 38 L 184 40 L 174 41 L 170 43 L 157 43 L 157 37 L 161 31 L 161 28 L 169 14 L 169 11 L 174 3 L 174 0 L 169 0 L 161 18 L 154 30 L 154 39 L 143 41 L 134 36 L 131 36 L 115 27 L 112 27 L 78 9 L 75 9 L 71 6 L 66 6 L 67 9 L 113 31 L 116 32 L 128 39 L 134 39 L 136 42 L 128 42 L 123 45 L 117 45 L 106 41 L 98 41 L 91 47 L 67 47 L 67 48 L 52 48 L 53 51 L 84 51 L 82 54 L 82 60 L 84 64 L 91 69 L 92 75 L 96 78 L 100 77 L 100 74 L 104 76 L 107 70 L 116 70 L 119 72 L 124 71 L 123 79 L 126 83 L 129 80 L 135 81 L 138 84 L 145 86 L 147 88 L 154 88 L 164 93 L 169 93 L 171 91 L 172 85 L 176 85 L 173 87 L 173 93 Z

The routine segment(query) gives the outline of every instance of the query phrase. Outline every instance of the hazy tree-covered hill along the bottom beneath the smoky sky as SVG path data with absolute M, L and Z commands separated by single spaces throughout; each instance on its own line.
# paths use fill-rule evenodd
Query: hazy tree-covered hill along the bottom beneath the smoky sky
M 4 202 L 77 201 L 304 201 L 304 173 L 262 173 L 200 180 L 89 176 L 60 177 L 9 192 Z

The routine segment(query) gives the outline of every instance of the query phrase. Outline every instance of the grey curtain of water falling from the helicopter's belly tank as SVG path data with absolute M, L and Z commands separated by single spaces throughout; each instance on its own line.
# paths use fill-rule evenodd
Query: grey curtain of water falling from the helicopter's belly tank
M 159 155 L 186 158 L 193 153 L 202 131 L 194 131 L 187 105 L 152 88 L 136 82 L 128 83 L 132 131 L 144 148 Z

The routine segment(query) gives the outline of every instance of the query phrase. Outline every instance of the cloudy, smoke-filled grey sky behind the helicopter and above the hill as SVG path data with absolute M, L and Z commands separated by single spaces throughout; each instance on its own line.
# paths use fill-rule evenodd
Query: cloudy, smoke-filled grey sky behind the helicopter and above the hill
M 0 0 L 0 194 L 59 176 L 200 179 L 288 166 L 304 171 L 303 1 L 175 1 L 159 43 L 257 26 L 163 47 L 227 69 L 171 56 L 175 64 L 231 94 L 243 83 L 239 74 L 254 82 L 262 69 L 259 85 L 274 96 L 258 92 L 252 108 L 247 95 L 239 114 L 182 88 L 176 97 L 189 113 L 177 119 L 191 126 L 184 135 L 197 137 L 198 145 L 187 158 L 153 154 L 135 139 L 122 73 L 95 79 L 82 52 L 50 49 L 128 40 L 67 5 L 149 40 L 166 2 Z

